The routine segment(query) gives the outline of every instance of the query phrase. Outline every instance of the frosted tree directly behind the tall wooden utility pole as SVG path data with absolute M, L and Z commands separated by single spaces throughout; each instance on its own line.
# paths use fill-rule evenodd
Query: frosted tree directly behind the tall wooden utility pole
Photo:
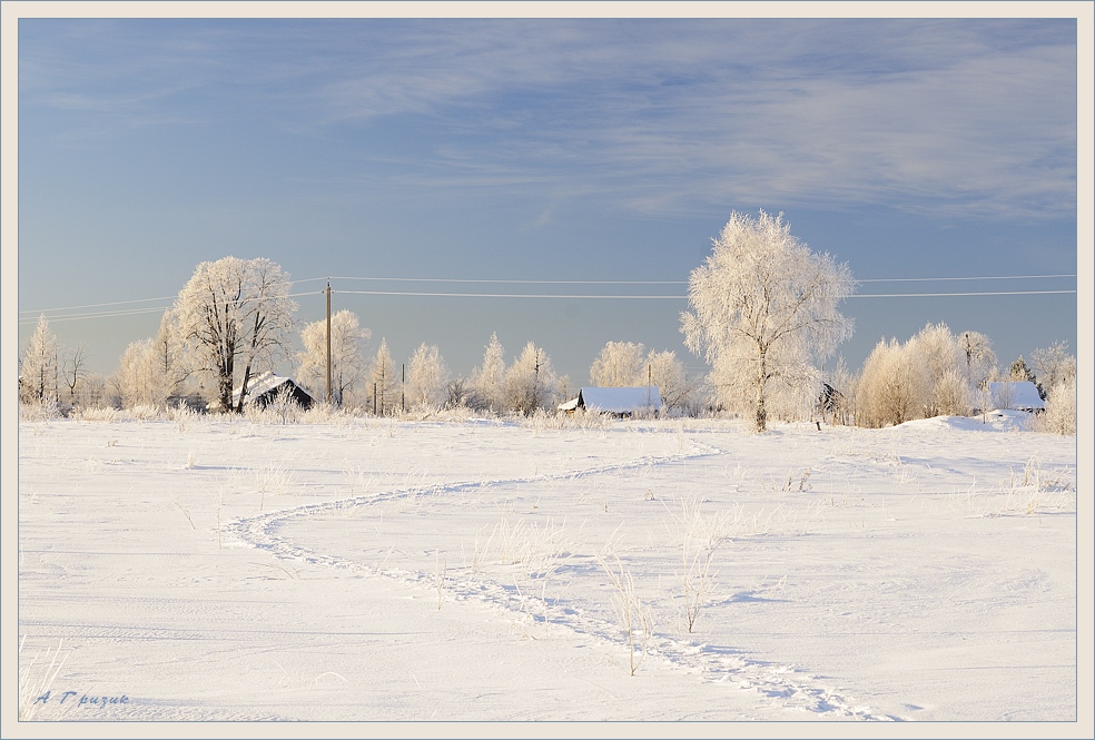
M 339 310 L 331 315 L 331 401 L 344 405 L 362 402 L 371 389 L 365 345 L 373 333 L 361 325 L 357 314 Z M 314 397 L 327 395 L 327 319 L 313 322 L 300 332 L 304 352 L 297 379 Z M 371 399 L 371 398 L 369 398 Z

